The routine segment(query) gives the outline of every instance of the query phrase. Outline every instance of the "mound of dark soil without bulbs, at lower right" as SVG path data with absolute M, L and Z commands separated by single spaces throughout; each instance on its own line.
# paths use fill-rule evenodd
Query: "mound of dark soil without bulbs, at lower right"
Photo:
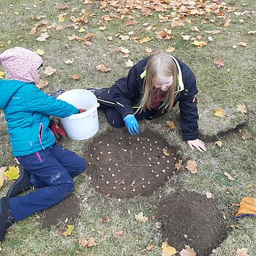
M 227 228 L 214 200 L 195 192 L 175 192 L 159 203 L 162 238 L 177 251 L 189 245 L 197 256 L 210 255 L 226 237 Z

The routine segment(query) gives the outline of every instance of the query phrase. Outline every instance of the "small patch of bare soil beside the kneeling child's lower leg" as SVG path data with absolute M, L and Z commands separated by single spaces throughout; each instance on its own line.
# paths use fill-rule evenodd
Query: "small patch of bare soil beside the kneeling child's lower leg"
M 59 225 L 60 222 L 75 225 L 80 216 L 79 204 L 78 197 L 70 195 L 56 206 L 46 209 L 42 212 L 42 227 Z

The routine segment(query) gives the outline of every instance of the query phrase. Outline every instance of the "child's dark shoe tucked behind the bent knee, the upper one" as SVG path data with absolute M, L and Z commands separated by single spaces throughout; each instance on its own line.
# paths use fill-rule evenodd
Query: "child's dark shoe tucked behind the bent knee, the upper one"
M 7 192 L 7 197 L 15 197 L 20 193 L 31 189 L 32 184 L 30 183 L 30 173 L 23 169 L 20 171 L 20 176 L 17 180 L 12 184 L 12 187 Z

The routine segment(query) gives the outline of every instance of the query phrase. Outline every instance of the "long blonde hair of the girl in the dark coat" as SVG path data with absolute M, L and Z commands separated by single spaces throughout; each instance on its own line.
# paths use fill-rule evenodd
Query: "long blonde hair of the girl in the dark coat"
M 164 104 L 165 108 L 171 110 L 173 102 L 178 94 L 178 70 L 176 63 L 168 53 L 155 53 L 148 58 L 146 64 L 146 78 L 143 83 L 143 97 L 140 99 L 140 105 L 136 113 L 141 113 L 146 109 L 151 109 L 151 99 L 154 93 L 154 82 L 158 77 L 171 77 L 173 76 L 173 85 L 167 90 L 165 95 Z

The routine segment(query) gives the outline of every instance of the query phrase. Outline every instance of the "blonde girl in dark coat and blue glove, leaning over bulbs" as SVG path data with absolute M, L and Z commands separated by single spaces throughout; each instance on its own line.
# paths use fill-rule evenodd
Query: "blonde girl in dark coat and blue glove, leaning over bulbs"
M 142 59 L 129 70 L 126 78 L 110 88 L 89 89 L 113 127 L 124 127 L 131 135 L 139 134 L 138 121 L 154 119 L 179 103 L 181 129 L 190 148 L 206 151 L 198 139 L 197 86 L 192 70 L 167 53 Z

